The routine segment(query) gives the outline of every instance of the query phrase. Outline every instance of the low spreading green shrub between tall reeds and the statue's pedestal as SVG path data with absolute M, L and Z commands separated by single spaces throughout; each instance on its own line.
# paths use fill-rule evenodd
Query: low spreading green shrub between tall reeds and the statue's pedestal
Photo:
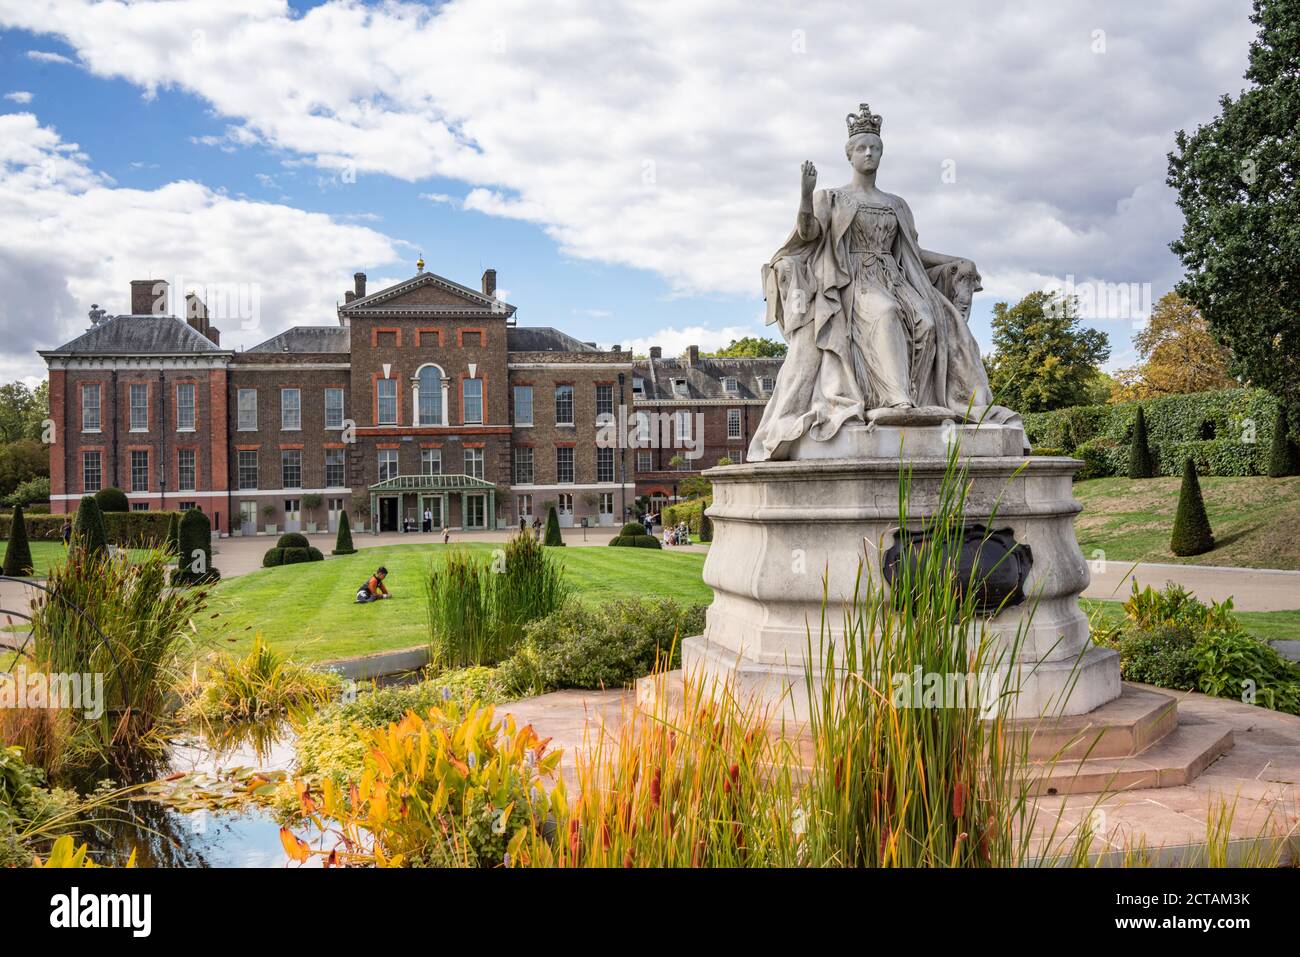
M 621 688 L 649 675 L 655 662 L 676 667 L 681 638 L 703 627 L 702 605 L 682 609 L 668 598 L 627 598 L 593 609 L 573 601 L 528 625 L 500 677 L 520 694 Z

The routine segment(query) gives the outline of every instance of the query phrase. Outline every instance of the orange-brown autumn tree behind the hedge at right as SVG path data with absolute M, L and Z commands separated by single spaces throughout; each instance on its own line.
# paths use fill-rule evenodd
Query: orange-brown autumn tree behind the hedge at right
M 1141 363 L 1115 373 L 1112 402 L 1153 399 L 1231 389 L 1232 354 L 1210 332 L 1200 311 L 1178 293 L 1166 293 L 1150 311 L 1150 321 L 1134 335 Z

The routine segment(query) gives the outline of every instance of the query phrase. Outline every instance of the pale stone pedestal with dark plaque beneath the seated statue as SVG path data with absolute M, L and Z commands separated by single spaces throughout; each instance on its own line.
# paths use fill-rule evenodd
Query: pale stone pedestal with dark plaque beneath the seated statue
M 1092 645 L 1079 594 L 1088 566 L 1074 536 L 1080 510 L 1075 459 L 1026 456 L 1018 426 L 850 425 L 831 442 L 802 439 L 792 462 L 724 465 L 708 515 L 714 542 L 705 581 L 714 590 L 705 633 L 682 642 L 682 671 L 719 679 L 793 720 L 807 716 L 809 657 L 823 628 L 842 636 L 842 606 L 863 575 L 880 575 L 898 527 L 900 467 L 911 472 L 909 525 L 937 503 L 956 443 L 971 484 L 966 521 L 1011 528 L 1032 549 L 1024 592 L 1032 601 L 987 619 L 1005 654 L 998 681 L 1019 688 L 1015 718 L 1086 714 L 1119 696 L 1119 657 Z M 1030 611 L 1032 609 L 1032 618 Z M 1026 620 L 1028 623 L 1026 624 Z

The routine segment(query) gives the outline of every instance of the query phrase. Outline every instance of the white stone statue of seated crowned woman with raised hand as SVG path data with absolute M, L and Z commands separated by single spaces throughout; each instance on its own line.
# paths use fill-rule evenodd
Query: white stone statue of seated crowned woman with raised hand
M 801 458 L 800 439 L 827 442 L 849 421 L 1019 424 L 992 404 L 966 325 L 975 264 L 918 244 L 911 209 L 876 187 L 880 117 L 863 103 L 846 122 L 853 178 L 818 190 L 805 163 L 796 229 L 763 267 L 767 322 L 789 352 L 750 462 Z

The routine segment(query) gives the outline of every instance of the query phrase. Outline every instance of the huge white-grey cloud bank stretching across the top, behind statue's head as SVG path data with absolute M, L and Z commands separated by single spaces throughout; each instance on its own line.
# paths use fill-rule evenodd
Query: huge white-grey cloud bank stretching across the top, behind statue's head
M 861 100 L 884 116 L 881 187 L 988 290 L 1176 278 L 1165 153 L 1242 86 L 1248 0 L 846 9 L 573 0 L 540 23 L 530 0 L 0 0 L 0 22 L 94 74 L 204 99 L 230 121 L 221 148 L 302 156 L 321 189 L 344 172 L 464 182 L 464 208 L 679 293 L 758 294 L 800 161 L 846 179 Z

